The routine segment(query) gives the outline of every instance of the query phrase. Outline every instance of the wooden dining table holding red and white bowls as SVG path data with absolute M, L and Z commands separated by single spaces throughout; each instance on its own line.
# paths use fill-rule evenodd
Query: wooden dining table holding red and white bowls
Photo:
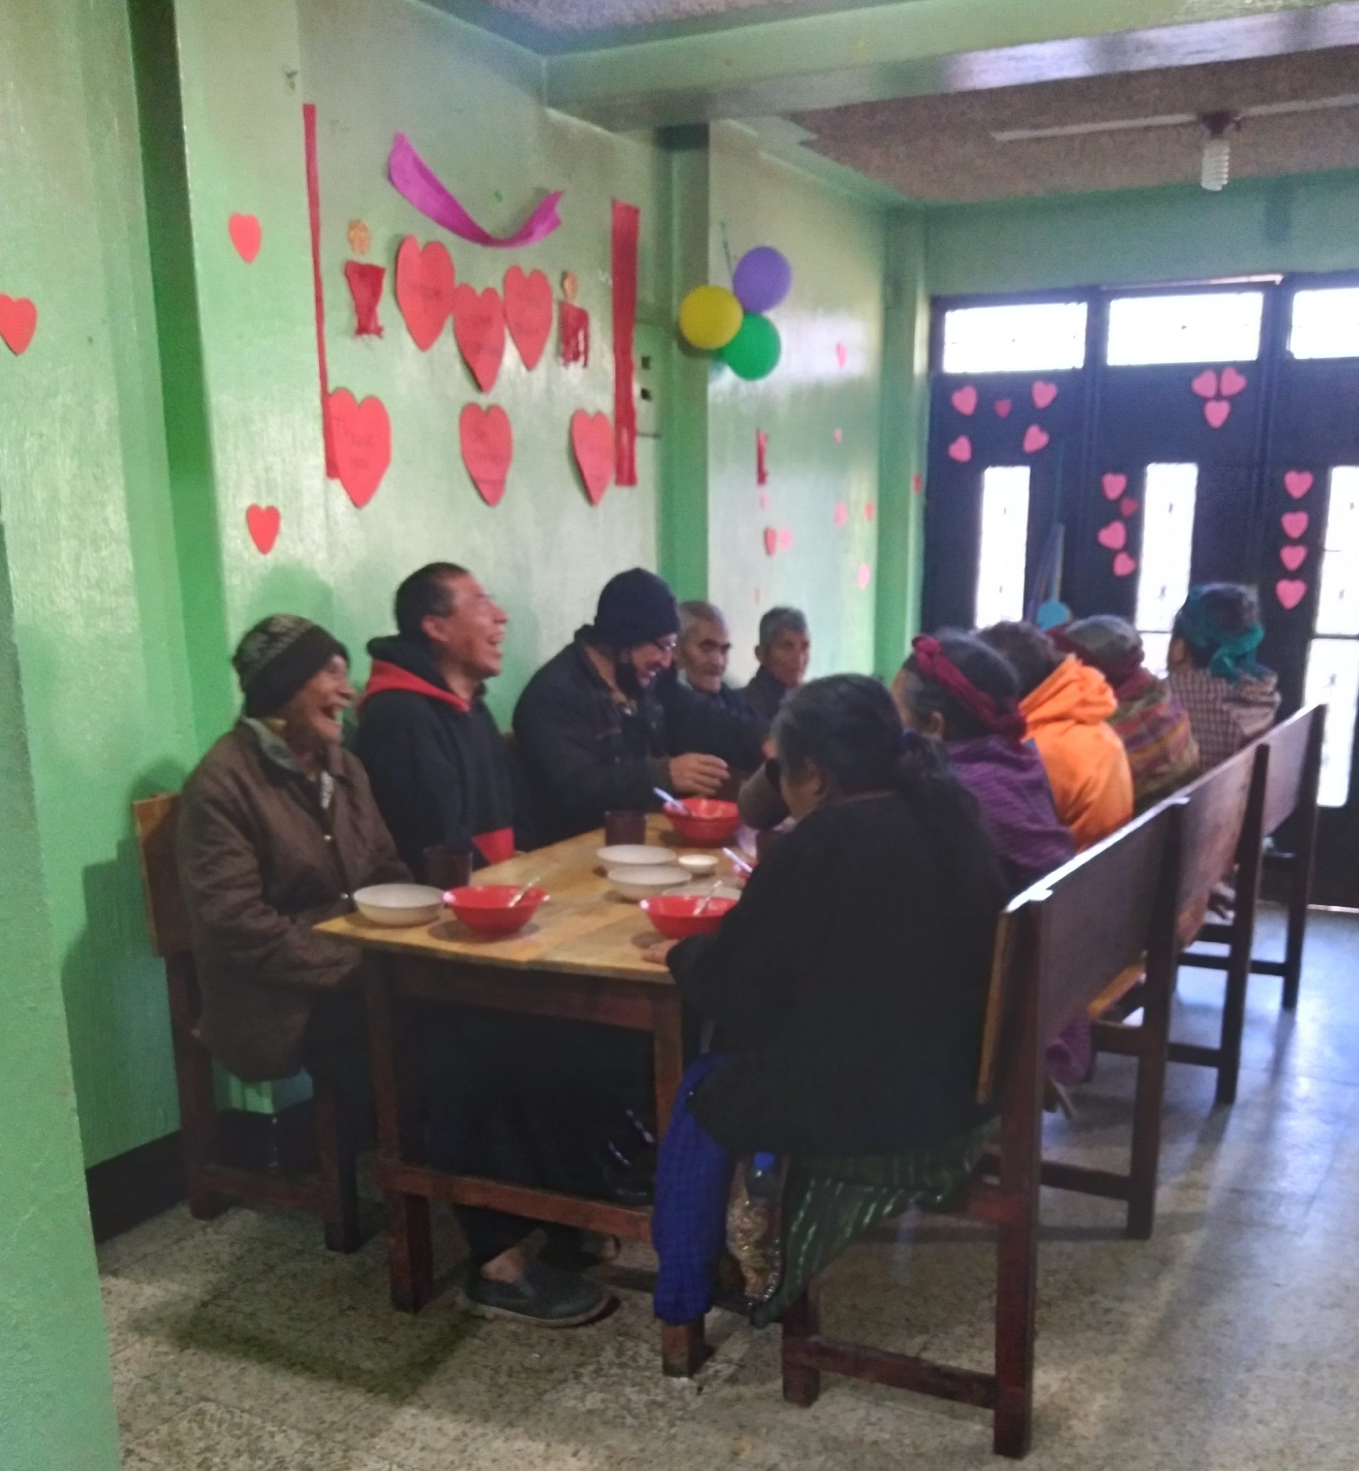
M 425 1164 L 419 1087 L 407 1055 L 406 1003 L 479 1006 L 532 1016 L 596 1022 L 649 1031 L 654 1056 L 656 1125 L 663 1136 L 684 1072 L 682 1006 L 663 965 L 643 959 L 660 938 L 646 913 L 621 899 L 604 877 L 597 852 L 603 834 L 585 833 L 552 847 L 496 863 L 477 874 L 482 884 L 524 884 L 535 878 L 547 900 L 516 934 L 485 938 L 452 913 L 434 924 L 387 928 L 359 913 L 318 928 L 377 953 L 368 968 L 366 1002 L 378 1115 L 377 1178 L 387 1212 L 391 1299 L 406 1312 L 434 1296 L 429 1203 L 484 1206 L 618 1237 L 650 1240 L 649 1208 L 562 1194 Z M 681 846 L 665 818 L 647 819 L 647 843 L 657 861 L 680 853 L 713 853 L 718 874 L 732 865 L 712 849 Z M 691 1374 L 705 1355 L 702 1322 L 662 1328 L 668 1374 Z

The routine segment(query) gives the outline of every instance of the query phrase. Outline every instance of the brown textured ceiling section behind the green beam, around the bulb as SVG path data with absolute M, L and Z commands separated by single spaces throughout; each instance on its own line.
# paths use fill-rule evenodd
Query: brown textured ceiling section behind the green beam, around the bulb
M 900 97 L 796 113 L 803 146 L 910 199 L 975 202 L 1199 178 L 1197 125 L 997 141 L 1007 129 L 1333 99 L 1359 93 L 1359 47 L 1075 81 Z M 1244 118 L 1231 172 L 1359 166 L 1359 106 Z

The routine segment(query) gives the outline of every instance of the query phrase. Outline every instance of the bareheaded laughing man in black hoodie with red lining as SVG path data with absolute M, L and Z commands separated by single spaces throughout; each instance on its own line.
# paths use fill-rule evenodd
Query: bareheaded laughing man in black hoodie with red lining
M 507 618 L 465 568 L 431 562 L 397 588 L 396 638 L 374 638 L 356 752 L 397 852 L 500 863 L 528 847 L 513 763 L 481 697 L 500 674 Z

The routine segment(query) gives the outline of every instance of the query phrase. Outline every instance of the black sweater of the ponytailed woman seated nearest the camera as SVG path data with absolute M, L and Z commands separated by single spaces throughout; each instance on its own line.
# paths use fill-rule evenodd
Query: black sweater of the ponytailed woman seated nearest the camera
M 978 1124 L 1000 886 L 963 887 L 905 797 L 799 822 L 669 956 L 730 1055 L 693 1094 L 703 1128 L 734 1153 L 891 1155 Z

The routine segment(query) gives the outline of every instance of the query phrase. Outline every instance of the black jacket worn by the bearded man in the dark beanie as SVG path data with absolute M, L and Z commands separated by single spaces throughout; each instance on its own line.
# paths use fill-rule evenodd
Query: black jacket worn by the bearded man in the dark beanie
M 721 756 L 753 771 L 760 733 L 685 685 L 665 699 L 643 690 L 625 710 L 590 663 L 581 635 L 549 659 L 515 706 L 515 737 L 528 775 L 534 827 L 544 843 L 588 833 L 610 811 L 649 812 L 668 787 L 669 758 Z

